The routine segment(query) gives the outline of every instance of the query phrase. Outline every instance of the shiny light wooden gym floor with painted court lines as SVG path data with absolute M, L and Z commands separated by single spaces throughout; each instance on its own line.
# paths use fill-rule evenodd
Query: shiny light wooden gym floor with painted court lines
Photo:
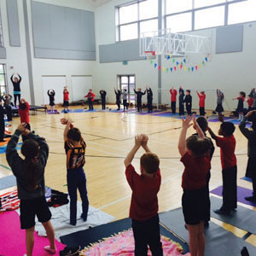
M 81 107 L 79 107 L 81 108 Z M 100 108 L 100 106 L 95 106 Z M 115 106 L 111 106 L 115 108 Z M 61 109 L 60 109 L 61 110 Z M 180 133 L 181 121 L 174 118 L 163 118 L 151 115 L 138 115 L 136 113 L 67 113 L 45 114 L 37 113 L 30 116 L 32 130 L 45 137 L 49 143 L 49 160 L 45 170 L 46 185 L 50 188 L 67 192 L 66 181 L 66 155 L 63 148 L 62 117 L 74 120 L 74 125 L 80 129 L 87 143 L 86 164 L 84 166 L 87 177 L 87 189 L 90 205 L 108 212 L 115 218 L 126 218 L 129 214 L 131 201 L 131 189 L 125 180 L 125 167 L 123 164 L 125 155 L 134 143 L 134 136 L 138 133 L 146 133 L 149 137 L 149 148 L 160 157 L 160 170 L 162 184 L 160 188 L 159 205 L 160 212 L 171 210 L 181 206 L 182 188 L 181 177 L 183 165 L 179 161 L 177 141 Z M 15 118 L 12 129 L 15 131 L 20 119 Z M 210 123 L 213 131 L 218 133 L 219 123 Z M 189 134 L 192 134 L 190 128 Z M 238 161 L 239 186 L 252 189 L 252 184 L 240 177 L 245 174 L 247 166 L 247 139 L 241 135 L 236 126 L 236 154 Z M 139 172 L 139 157 L 143 150 L 137 153 L 137 159 L 133 161 Z M 0 154 L 0 177 L 12 173 L 4 168 L 8 166 L 5 154 Z M 222 184 L 219 148 L 216 148 L 212 159 L 212 178 L 210 189 Z M 0 191 L 8 191 L 5 189 Z M 244 206 L 243 207 L 248 207 Z M 256 208 L 252 208 L 256 210 Z M 212 221 L 230 230 L 236 236 L 242 237 L 246 231 L 237 229 L 229 224 L 224 224 L 217 219 Z M 252 220 L 254 221 L 254 220 Z M 250 236 L 248 242 L 254 246 L 256 236 Z

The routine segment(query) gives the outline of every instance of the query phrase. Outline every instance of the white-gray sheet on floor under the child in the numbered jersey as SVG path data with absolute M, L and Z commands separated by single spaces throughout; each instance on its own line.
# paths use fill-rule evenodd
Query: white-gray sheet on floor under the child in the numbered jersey
M 114 217 L 108 213 L 102 212 L 94 207 L 89 207 L 87 221 L 84 222 L 80 217 L 82 214 L 82 203 L 78 201 L 77 206 L 78 220 L 76 226 L 69 224 L 69 204 L 61 207 L 49 207 L 52 214 L 51 224 L 54 226 L 56 239 L 59 239 L 60 236 L 65 236 L 79 230 L 87 230 L 97 225 L 107 224 L 114 220 Z M 20 212 L 20 209 L 16 212 Z M 39 236 L 46 236 L 44 227 L 38 221 L 36 221 L 35 230 L 38 232 Z

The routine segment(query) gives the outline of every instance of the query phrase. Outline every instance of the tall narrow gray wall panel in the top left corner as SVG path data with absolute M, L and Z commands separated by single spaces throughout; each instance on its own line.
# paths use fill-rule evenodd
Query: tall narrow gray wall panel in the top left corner
M 17 0 L 6 1 L 9 24 L 9 44 L 20 46 L 20 24 Z

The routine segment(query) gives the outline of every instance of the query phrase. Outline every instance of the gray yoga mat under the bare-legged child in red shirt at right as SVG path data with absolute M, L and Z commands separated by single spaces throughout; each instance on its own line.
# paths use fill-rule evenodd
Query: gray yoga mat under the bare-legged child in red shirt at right
M 160 223 L 164 224 L 169 230 L 172 230 L 184 241 L 189 242 L 189 232 L 184 227 L 184 218 L 182 208 L 177 208 L 170 212 L 160 213 Z M 209 228 L 205 230 L 206 236 L 206 256 L 224 256 L 241 255 L 242 247 L 247 247 L 250 256 L 256 255 L 256 247 L 243 241 L 233 233 L 224 230 L 222 227 L 209 223 Z

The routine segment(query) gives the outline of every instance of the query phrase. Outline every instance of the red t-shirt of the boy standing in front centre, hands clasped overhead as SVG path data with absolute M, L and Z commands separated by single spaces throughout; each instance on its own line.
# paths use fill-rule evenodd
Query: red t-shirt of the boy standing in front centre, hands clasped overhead
M 158 212 L 157 193 L 160 189 L 160 171 L 154 177 L 139 175 L 133 166 L 126 167 L 125 175 L 129 183 L 131 195 L 131 207 L 129 217 L 138 221 L 153 218 Z

